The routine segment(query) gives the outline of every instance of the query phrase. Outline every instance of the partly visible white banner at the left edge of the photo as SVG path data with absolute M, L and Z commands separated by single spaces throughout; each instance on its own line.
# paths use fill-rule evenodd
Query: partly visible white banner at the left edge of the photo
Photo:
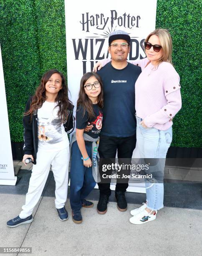
M 3 64 L 0 48 L 0 185 L 15 185 L 17 177 L 14 175 L 13 157 L 10 144 L 8 111 L 3 77 Z

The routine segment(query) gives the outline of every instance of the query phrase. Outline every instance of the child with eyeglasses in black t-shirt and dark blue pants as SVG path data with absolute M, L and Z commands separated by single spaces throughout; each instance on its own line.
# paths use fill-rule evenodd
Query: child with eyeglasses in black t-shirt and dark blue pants
M 81 207 L 93 207 L 85 200 L 95 187 L 97 148 L 102 128 L 103 85 L 95 72 L 83 75 L 76 110 L 76 133 L 71 139 L 70 204 L 74 223 L 82 222 Z M 93 125 L 91 131 L 84 131 Z M 95 170 L 96 166 L 96 170 Z

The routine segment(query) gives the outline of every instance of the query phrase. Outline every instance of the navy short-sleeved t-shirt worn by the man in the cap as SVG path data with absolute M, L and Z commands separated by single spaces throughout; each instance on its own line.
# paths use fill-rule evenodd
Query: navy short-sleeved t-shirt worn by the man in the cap
M 128 63 L 115 69 L 111 63 L 97 72 L 103 82 L 104 107 L 101 134 L 129 137 L 136 133 L 135 82 L 141 68 Z

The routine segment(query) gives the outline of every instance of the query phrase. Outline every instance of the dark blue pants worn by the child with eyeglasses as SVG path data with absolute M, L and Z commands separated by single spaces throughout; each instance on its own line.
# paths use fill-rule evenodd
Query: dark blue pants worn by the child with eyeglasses
M 85 141 L 86 151 L 92 160 L 92 142 Z M 71 170 L 70 170 L 70 204 L 72 210 L 80 210 L 82 200 L 85 199 L 96 185 L 93 179 L 92 167 L 83 165 L 81 151 L 77 141 L 71 147 Z

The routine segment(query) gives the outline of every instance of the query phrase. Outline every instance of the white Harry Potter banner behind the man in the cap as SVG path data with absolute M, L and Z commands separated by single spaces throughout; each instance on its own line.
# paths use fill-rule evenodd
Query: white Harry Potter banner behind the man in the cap
M 68 89 L 75 106 L 82 75 L 90 72 L 96 61 L 110 58 L 108 39 L 111 32 L 121 29 L 129 33 L 128 59 L 145 57 L 143 42 L 155 29 L 156 8 L 157 0 L 129 0 L 124 4 L 117 0 L 100 3 L 79 0 L 76 8 L 65 0 Z M 137 158 L 138 154 L 133 157 Z M 145 192 L 142 184 L 140 190 Z

